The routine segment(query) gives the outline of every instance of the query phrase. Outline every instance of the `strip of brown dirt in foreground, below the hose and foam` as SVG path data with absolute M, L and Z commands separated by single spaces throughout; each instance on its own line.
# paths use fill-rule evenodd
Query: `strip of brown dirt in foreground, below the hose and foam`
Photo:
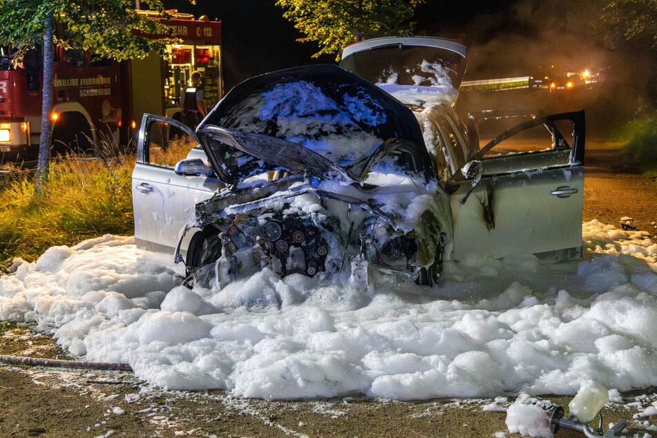
M 648 392 L 654 393 L 654 391 Z M 625 394 L 635 408 L 608 404 L 616 422 L 657 396 Z M 566 406 L 568 397 L 546 397 Z M 638 400 L 638 401 L 637 401 Z M 236 399 L 226 392 L 150 388 L 127 372 L 0 367 L 3 437 L 493 437 L 506 432 L 512 399 L 401 402 L 364 397 L 319 401 Z M 634 421 L 650 430 L 657 419 Z M 634 433 L 634 432 L 633 432 Z M 518 435 L 508 434 L 510 437 Z M 560 433 L 559 436 L 576 436 Z

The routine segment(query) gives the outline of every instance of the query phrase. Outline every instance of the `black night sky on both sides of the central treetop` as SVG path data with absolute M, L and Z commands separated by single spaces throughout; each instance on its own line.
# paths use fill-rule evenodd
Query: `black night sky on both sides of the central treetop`
M 472 38 L 462 30 L 466 23 L 478 15 L 508 10 L 515 1 L 428 0 L 416 10 L 416 33 L 453 37 L 468 43 Z M 312 58 L 318 46 L 297 42 L 301 33 L 282 17 L 283 9 L 274 3 L 275 0 L 196 0 L 193 6 L 185 0 L 165 1 L 167 7 L 180 12 L 220 19 L 227 88 L 267 71 L 318 62 L 334 63 L 332 56 Z

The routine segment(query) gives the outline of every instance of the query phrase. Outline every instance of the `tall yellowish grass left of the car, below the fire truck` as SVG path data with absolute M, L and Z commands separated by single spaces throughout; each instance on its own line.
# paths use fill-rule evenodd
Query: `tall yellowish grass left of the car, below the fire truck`
M 35 198 L 33 175 L 12 173 L 0 189 L 0 267 L 35 260 L 53 245 L 102 234 L 132 234 L 134 158 L 67 156 L 50 164 L 45 195 Z

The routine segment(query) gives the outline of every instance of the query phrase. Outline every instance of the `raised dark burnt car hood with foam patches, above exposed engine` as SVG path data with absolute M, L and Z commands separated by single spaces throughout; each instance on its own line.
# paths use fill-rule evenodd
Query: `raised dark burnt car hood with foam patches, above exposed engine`
M 247 79 L 213 108 L 197 133 L 227 184 L 277 169 L 359 181 L 401 149 L 430 162 L 412 111 L 332 65 Z

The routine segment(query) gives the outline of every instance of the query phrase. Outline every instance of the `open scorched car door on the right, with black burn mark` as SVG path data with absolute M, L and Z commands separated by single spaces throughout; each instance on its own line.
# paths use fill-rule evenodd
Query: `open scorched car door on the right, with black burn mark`
M 572 135 L 564 137 L 564 132 Z M 535 117 L 508 129 L 448 185 L 455 260 L 468 253 L 536 254 L 551 261 L 578 258 L 584 112 Z

